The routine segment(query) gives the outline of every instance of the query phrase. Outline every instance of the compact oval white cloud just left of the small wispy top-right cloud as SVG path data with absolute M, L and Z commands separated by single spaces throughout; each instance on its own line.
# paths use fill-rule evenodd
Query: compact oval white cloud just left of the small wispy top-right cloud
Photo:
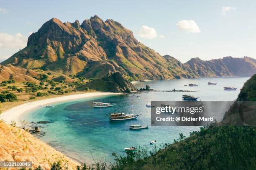
M 200 32 L 200 29 L 194 20 L 181 20 L 177 23 L 177 26 L 179 27 L 179 29 L 184 30 L 186 32 Z

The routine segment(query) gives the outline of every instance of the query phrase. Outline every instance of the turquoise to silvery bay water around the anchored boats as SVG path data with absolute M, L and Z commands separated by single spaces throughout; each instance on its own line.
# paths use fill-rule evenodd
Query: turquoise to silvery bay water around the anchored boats
M 235 100 L 239 89 L 249 77 L 211 77 L 184 80 L 161 80 L 137 82 L 138 88 L 146 84 L 154 90 L 196 90 L 196 92 L 142 92 L 129 95 L 114 95 L 86 100 L 66 101 L 54 104 L 53 108 L 38 107 L 23 115 L 28 122 L 48 120 L 48 124 L 36 124 L 46 132 L 40 139 L 49 143 L 79 162 L 92 163 L 94 159 L 105 155 L 108 162 L 113 160 L 112 153 L 123 155 L 124 148 L 146 145 L 157 140 L 159 147 L 163 143 L 172 143 L 179 133 L 188 136 L 189 132 L 199 130 L 193 126 L 150 126 L 150 108 L 146 103 L 151 100 L 181 100 L 183 94 L 192 94 L 200 100 Z M 217 85 L 207 85 L 207 82 L 218 82 Z M 199 84 L 198 87 L 188 87 L 189 83 Z M 237 91 L 224 91 L 224 86 L 238 87 Z M 139 97 L 136 97 L 139 96 Z M 114 107 L 93 108 L 93 102 L 117 103 Z M 138 120 L 110 122 L 108 115 L 113 112 L 130 113 L 132 106 L 135 113 L 142 114 Z M 129 130 L 131 124 L 149 125 L 145 130 Z M 35 124 L 31 124 L 35 126 Z M 92 153 L 92 155 L 91 155 Z

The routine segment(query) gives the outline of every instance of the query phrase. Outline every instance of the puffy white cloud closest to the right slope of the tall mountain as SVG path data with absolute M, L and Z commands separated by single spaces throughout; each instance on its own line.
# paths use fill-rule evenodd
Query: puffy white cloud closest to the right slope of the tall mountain
M 156 33 L 155 28 L 148 27 L 146 25 L 143 25 L 141 27 L 140 32 L 138 33 L 138 36 L 141 38 L 146 38 L 146 39 L 150 39 L 150 40 L 157 38 L 157 37 L 165 38 L 164 35 L 158 35 Z

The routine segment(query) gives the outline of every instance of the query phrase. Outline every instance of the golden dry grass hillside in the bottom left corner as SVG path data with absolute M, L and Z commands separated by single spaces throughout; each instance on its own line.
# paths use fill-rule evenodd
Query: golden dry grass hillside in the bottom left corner
M 61 161 L 61 165 L 68 165 L 68 169 L 77 166 L 77 163 L 25 130 L 3 122 L 0 122 L 0 139 L 0 161 L 32 161 L 33 168 L 41 165 L 46 170 L 54 161 Z

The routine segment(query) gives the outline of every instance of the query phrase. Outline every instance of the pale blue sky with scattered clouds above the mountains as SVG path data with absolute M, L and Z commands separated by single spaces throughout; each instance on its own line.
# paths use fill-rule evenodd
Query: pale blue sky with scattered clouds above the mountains
M 0 61 L 46 21 L 113 19 L 161 55 L 256 58 L 255 0 L 0 0 Z

